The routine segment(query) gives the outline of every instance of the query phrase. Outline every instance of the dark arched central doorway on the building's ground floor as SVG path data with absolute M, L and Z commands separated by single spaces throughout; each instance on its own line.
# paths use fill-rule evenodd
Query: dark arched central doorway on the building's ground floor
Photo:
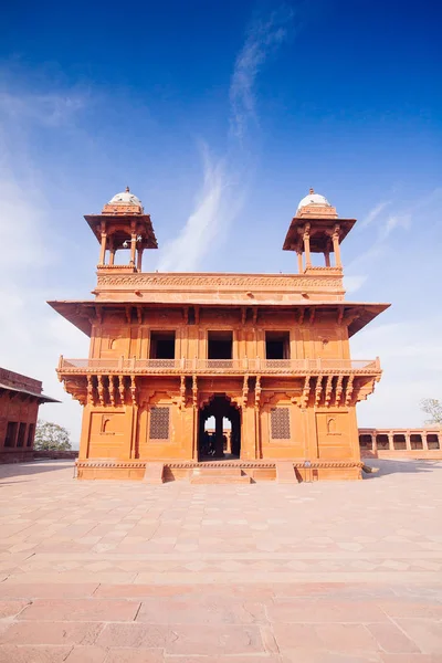
M 224 393 L 214 394 L 200 410 L 198 455 L 200 460 L 241 455 L 241 413 Z

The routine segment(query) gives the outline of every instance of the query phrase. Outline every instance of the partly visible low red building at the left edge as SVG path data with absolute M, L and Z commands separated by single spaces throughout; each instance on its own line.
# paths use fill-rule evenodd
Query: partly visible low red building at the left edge
M 59 402 L 42 393 L 42 382 L 0 368 L 0 462 L 33 457 L 39 406 Z

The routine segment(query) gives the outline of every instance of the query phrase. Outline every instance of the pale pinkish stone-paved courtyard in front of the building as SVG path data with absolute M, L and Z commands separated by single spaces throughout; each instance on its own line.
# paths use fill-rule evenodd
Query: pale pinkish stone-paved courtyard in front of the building
M 442 463 L 148 486 L 0 467 L 0 662 L 442 661 Z

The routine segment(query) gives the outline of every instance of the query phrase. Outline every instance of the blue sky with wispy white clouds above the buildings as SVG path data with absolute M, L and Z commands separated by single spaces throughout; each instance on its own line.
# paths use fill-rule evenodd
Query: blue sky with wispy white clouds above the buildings
M 420 425 L 442 398 L 442 46 L 436 2 L 9 6 L 0 25 L 0 365 L 44 380 L 87 339 L 45 305 L 87 297 L 84 213 L 126 185 L 160 250 L 146 270 L 291 272 L 314 187 L 359 221 L 348 299 L 392 307 L 352 341 L 385 375 L 361 425 Z M 31 322 L 30 322 L 31 320 Z

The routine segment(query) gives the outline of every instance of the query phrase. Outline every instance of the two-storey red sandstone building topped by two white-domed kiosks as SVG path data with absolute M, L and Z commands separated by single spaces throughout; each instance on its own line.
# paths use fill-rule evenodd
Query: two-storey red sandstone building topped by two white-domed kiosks
M 360 477 L 356 404 L 381 369 L 352 359 L 349 337 L 388 304 L 345 299 L 340 245 L 355 219 L 311 190 L 283 246 L 297 274 L 143 272 L 157 240 L 128 189 L 85 219 L 101 245 L 94 298 L 50 302 L 91 337 L 88 358 L 57 368 L 84 406 L 78 477 Z

